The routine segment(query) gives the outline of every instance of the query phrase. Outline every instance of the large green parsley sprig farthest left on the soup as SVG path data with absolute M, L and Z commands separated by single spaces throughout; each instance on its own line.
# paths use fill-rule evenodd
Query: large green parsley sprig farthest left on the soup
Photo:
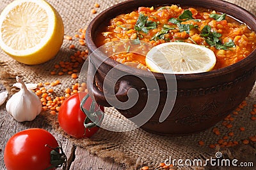
M 157 26 L 156 22 L 148 21 L 148 17 L 140 13 L 136 24 L 134 25 L 134 29 L 136 31 L 143 31 L 148 33 L 149 29 L 155 29 Z

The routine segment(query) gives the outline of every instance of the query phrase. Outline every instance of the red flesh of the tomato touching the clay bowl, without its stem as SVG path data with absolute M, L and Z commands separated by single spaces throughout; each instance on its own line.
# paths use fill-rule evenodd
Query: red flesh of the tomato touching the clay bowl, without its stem
M 70 136 L 74 138 L 90 138 L 95 132 L 99 130 L 99 127 L 95 126 L 90 129 L 86 128 L 84 133 L 84 120 L 86 118 L 86 114 L 81 111 L 80 103 L 84 96 L 86 96 L 86 92 L 79 92 L 68 97 L 63 104 L 61 104 L 60 111 L 58 114 L 58 121 L 60 127 Z M 90 106 L 92 104 L 92 99 L 88 97 L 86 103 L 84 104 L 84 108 L 86 110 L 90 110 Z M 95 110 L 98 110 L 99 107 L 95 104 Z M 104 108 L 100 106 L 100 110 L 104 111 Z

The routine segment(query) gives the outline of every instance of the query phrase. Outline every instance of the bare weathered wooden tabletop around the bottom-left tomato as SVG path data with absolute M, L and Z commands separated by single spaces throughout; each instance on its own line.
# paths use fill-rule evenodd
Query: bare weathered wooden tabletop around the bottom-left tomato
M 1 85 L 0 85 L 1 91 Z M 67 138 L 54 131 L 50 125 L 47 124 L 45 118 L 38 115 L 32 122 L 17 122 L 5 110 L 5 103 L 0 106 L 0 169 L 6 169 L 4 166 L 4 146 L 8 139 L 15 133 L 24 129 L 38 127 L 45 129 L 58 140 L 61 141 L 63 151 L 68 157 L 67 169 L 83 169 L 83 170 L 122 170 L 122 165 L 115 164 L 111 159 L 100 159 L 97 155 L 89 153 L 83 148 L 76 147 Z M 59 168 L 62 169 L 62 168 Z M 35 169 L 36 170 L 36 169 Z

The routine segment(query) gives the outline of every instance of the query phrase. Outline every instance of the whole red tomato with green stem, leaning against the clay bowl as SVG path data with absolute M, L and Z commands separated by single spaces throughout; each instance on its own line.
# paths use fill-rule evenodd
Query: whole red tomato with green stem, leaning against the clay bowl
M 100 109 L 99 109 L 100 108 Z M 58 113 L 61 129 L 74 138 L 90 138 L 99 130 L 104 107 L 98 106 L 86 92 L 74 94 L 63 102 Z M 87 116 L 89 115 L 89 117 Z M 92 119 L 93 118 L 93 122 Z M 97 125 L 96 125 L 96 124 Z

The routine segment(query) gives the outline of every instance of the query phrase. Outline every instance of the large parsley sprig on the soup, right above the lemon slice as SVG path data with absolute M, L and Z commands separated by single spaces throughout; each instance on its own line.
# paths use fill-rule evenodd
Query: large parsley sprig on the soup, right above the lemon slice
M 210 25 L 204 26 L 200 36 L 202 36 L 205 39 L 206 43 L 208 43 L 210 46 L 215 46 L 216 49 L 218 50 L 228 50 L 228 48 L 235 46 L 234 41 L 232 41 L 232 39 L 230 39 L 228 43 L 221 43 L 220 37 L 222 35 L 218 32 L 211 31 Z

